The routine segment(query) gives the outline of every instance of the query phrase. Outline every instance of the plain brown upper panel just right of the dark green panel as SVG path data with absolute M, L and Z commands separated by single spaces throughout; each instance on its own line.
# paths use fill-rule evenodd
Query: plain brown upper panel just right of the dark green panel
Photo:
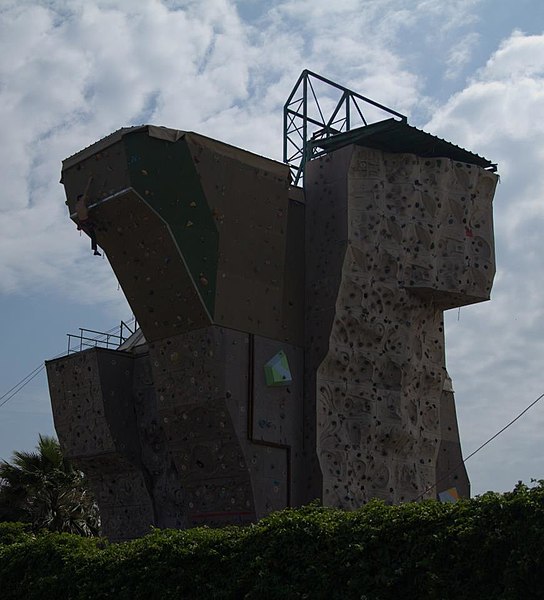
M 215 322 L 292 339 L 283 327 L 287 166 L 202 136 L 187 142 L 219 230 Z

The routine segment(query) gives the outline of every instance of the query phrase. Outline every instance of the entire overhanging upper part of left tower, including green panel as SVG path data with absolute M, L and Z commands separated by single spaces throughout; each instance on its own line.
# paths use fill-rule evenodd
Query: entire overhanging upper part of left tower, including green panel
M 94 177 L 97 241 L 146 339 L 215 323 L 301 346 L 302 211 L 288 167 L 164 131 L 121 130 L 67 159 L 62 175 L 76 222 L 75 198 Z

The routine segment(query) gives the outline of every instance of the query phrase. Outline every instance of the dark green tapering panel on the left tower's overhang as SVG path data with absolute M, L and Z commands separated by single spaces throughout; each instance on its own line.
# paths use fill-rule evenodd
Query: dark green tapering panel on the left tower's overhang
M 187 143 L 153 138 L 146 131 L 123 139 L 131 185 L 169 225 L 213 320 L 219 233 Z

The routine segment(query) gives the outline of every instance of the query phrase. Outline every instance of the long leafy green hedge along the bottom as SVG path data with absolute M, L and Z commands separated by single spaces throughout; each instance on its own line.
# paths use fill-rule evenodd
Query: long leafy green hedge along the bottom
M 544 481 L 457 504 L 312 505 L 124 544 L 4 523 L 0 597 L 544 598 Z

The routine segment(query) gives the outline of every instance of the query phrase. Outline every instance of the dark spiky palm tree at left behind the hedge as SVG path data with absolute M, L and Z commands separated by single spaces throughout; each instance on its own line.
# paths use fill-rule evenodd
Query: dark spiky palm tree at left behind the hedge
M 55 438 L 40 435 L 36 450 L 0 462 L 0 521 L 98 535 L 98 507 L 85 475 L 63 457 Z

